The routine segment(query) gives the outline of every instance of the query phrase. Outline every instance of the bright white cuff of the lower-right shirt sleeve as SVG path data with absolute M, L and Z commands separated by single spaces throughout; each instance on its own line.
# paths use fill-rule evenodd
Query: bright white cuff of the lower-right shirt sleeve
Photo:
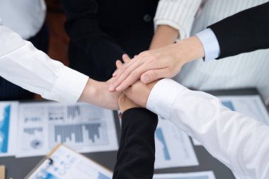
M 167 88 L 169 86 L 169 88 Z M 186 88 L 171 79 L 162 79 L 152 88 L 147 100 L 147 109 L 170 120 L 171 110 L 176 97 Z

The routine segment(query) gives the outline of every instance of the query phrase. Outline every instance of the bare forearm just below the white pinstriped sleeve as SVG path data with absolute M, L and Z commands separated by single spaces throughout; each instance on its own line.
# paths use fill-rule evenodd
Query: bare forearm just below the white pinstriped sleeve
M 172 45 L 176 42 L 178 37 L 178 30 L 169 25 L 158 25 L 151 40 L 149 50 Z

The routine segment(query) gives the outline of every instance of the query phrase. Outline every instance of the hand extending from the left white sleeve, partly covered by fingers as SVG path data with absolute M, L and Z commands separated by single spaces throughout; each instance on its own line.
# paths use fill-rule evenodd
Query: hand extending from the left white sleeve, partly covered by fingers
M 110 86 L 111 80 L 100 82 L 93 79 L 88 79 L 84 88 L 80 101 L 98 105 L 101 108 L 108 108 L 110 110 L 118 110 L 118 98 L 119 92 L 110 93 L 108 87 Z

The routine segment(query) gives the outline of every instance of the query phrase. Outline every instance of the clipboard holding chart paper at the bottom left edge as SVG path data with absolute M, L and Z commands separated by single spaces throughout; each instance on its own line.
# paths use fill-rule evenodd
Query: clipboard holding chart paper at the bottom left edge
M 96 161 L 58 144 L 25 179 L 112 178 L 113 171 Z

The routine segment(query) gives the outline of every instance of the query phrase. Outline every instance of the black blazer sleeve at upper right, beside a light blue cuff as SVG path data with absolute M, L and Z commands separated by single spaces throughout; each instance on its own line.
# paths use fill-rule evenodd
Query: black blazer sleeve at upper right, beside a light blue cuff
M 220 47 L 219 59 L 269 48 L 269 2 L 210 25 Z

